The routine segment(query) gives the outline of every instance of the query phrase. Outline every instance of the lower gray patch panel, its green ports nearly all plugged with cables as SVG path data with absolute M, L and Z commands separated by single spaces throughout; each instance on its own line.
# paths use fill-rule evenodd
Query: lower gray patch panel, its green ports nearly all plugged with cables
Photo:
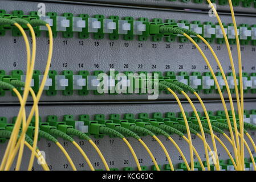
M 200 108 L 200 104 L 195 104 L 197 108 Z M 206 103 L 206 106 L 209 111 L 212 111 L 212 115 L 221 118 L 223 117 L 223 112 L 219 111 L 217 112 L 218 103 Z M 247 122 L 255 122 L 255 111 L 251 110 L 254 108 L 254 103 L 249 102 L 246 104 L 245 110 L 246 110 L 246 118 Z M 49 123 L 51 121 L 51 117 L 54 116 L 56 119 L 55 121 L 58 121 L 60 125 L 63 125 L 63 122 L 66 123 L 66 125 L 73 125 L 76 129 L 80 129 L 84 132 L 90 132 L 88 128 L 88 122 L 86 125 L 83 124 L 82 127 L 81 123 L 83 121 L 88 121 L 87 119 L 91 119 L 91 121 L 98 121 L 100 119 L 100 115 L 103 115 L 102 118 L 105 119 L 105 121 L 111 122 L 115 120 L 115 125 L 117 125 L 117 121 L 125 120 L 128 117 L 128 113 L 134 114 L 134 118 L 143 118 L 142 115 L 139 113 L 147 113 L 148 118 L 151 119 L 151 122 L 153 123 L 153 118 L 158 118 L 156 116 L 156 113 L 159 113 L 161 116 L 159 118 L 165 118 L 166 120 L 169 120 L 170 118 L 180 118 L 179 110 L 177 110 L 177 104 L 176 103 L 169 103 L 169 104 L 133 104 L 133 105 L 127 105 L 127 104 L 105 104 L 105 105 L 74 105 L 72 106 L 72 109 L 70 109 L 70 105 L 62 105 L 62 106 L 40 106 L 40 122 L 43 123 Z M 6 106 L 6 107 L 0 107 L 1 116 L 0 116 L 0 126 L 3 127 L 2 123 L 12 123 L 14 121 L 15 115 L 12 113 L 17 113 L 18 106 Z M 184 104 L 184 109 L 188 112 L 189 117 L 193 116 L 193 111 L 191 107 L 188 104 Z M 137 112 L 139 111 L 139 112 Z M 44 114 L 46 113 L 46 114 Z M 155 113 L 155 115 L 154 115 Z M 169 114 L 168 114 L 169 113 Z M 172 114 L 171 114 L 172 113 Z M 114 114 L 116 114 L 116 118 L 120 117 L 119 119 L 115 119 Z M 203 116 L 204 114 L 201 113 Z M 71 119 L 69 118 L 71 116 Z M 86 116 L 86 117 L 85 117 Z M 58 118 L 58 119 L 57 119 Z M 87 118 L 87 119 L 85 119 Z M 193 117 L 192 117 L 193 118 Z M 192 119 L 191 118 L 191 119 Z M 6 119 L 6 120 L 5 120 Z M 100 119 L 101 121 L 104 121 L 104 119 Z M 70 122 L 68 122 L 70 120 Z M 140 122 L 142 119 L 137 119 L 137 122 Z M 156 121 L 157 119 L 155 119 Z M 193 119 L 192 119 L 193 120 Z M 221 120 L 221 119 L 220 119 Z M 47 122 L 48 121 L 48 122 Z M 66 122 L 65 122 L 66 121 Z M 132 119 L 129 120 L 131 122 Z M 142 121 L 141 121 L 142 122 Z M 147 122 L 144 119 L 144 122 Z M 157 122 L 161 123 L 160 119 L 157 120 Z M 75 124 L 76 123 L 76 124 Z M 78 124 L 80 123 L 80 124 Z M 103 123 L 98 121 L 98 123 Z M 106 123 L 106 125 L 108 125 Z M 52 124 L 51 124 L 52 125 Z M 102 125 L 102 124 L 101 124 Z M 122 124 L 121 124 L 122 125 Z M 224 130 L 226 134 L 229 134 L 229 131 Z M 127 147 L 125 147 L 124 143 L 121 141 L 121 139 L 113 136 L 108 135 L 96 135 L 96 130 L 92 130 L 92 135 L 90 137 L 94 140 L 94 142 L 99 146 L 101 152 L 105 156 L 105 159 L 107 160 L 108 164 L 111 164 L 109 167 L 112 169 L 118 169 L 118 170 L 137 170 L 136 164 L 134 162 L 134 159 L 132 158 L 131 153 L 128 151 Z M 248 129 L 248 132 L 251 135 L 254 135 L 255 131 Z M 161 170 L 169 170 L 168 161 L 166 161 L 166 158 L 163 157 L 164 152 L 162 152 L 159 147 L 156 147 L 156 141 L 152 139 L 152 137 L 143 135 L 142 133 L 139 134 L 141 138 L 143 138 L 143 141 L 148 145 L 149 149 L 152 151 L 153 155 L 155 156 L 157 163 L 160 165 Z M 232 151 L 231 145 L 227 142 L 227 140 L 219 133 L 216 133 L 218 137 L 220 137 L 221 140 L 226 144 L 227 148 L 229 148 L 229 151 Z M 207 136 L 207 142 L 209 143 L 210 147 L 212 147 L 210 135 L 206 134 Z M 170 157 L 172 159 L 172 162 L 174 164 L 174 167 L 176 169 L 185 169 L 184 167 L 184 161 L 181 159 L 180 154 L 176 150 L 176 148 L 170 143 L 164 136 L 157 135 L 159 139 L 164 143 L 166 146 L 166 149 L 169 151 Z M 171 137 L 177 142 L 178 146 L 182 148 L 182 151 L 184 151 L 184 155 L 187 160 L 189 160 L 189 150 L 188 150 L 188 143 L 185 142 L 184 139 L 179 137 L 177 134 L 171 134 Z M 101 169 L 105 170 L 103 163 L 99 159 L 97 155 L 95 155 L 95 150 L 90 146 L 86 140 L 79 139 L 74 137 L 75 140 L 80 144 L 80 146 L 86 151 L 86 154 L 91 159 L 92 164 L 94 165 L 95 169 Z M 202 141 L 196 137 L 196 135 L 192 134 L 194 147 L 198 151 L 198 154 L 200 154 L 200 157 L 203 161 L 205 161 L 205 152 L 204 149 L 200 146 L 202 144 Z M 245 138 L 247 140 L 247 138 Z M 255 139 L 255 138 L 254 138 Z M 78 170 L 90 170 L 88 168 L 88 164 L 84 161 L 82 155 L 78 153 L 78 151 L 75 150 L 74 147 L 72 147 L 72 144 L 67 142 L 66 140 L 63 140 L 62 138 L 58 138 L 59 142 L 63 144 L 64 148 L 68 151 L 68 153 L 71 155 L 72 159 L 74 160 L 75 166 L 78 168 Z M 135 152 L 137 154 L 138 159 L 141 159 L 141 166 L 144 166 L 145 169 L 148 170 L 154 170 L 154 164 L 152 160 L 149 158 L 148 154 L 145 153 L 145 150 L 141 147 L 139 142 L 137 142 L 135 139 L 128 137 L 129 142 L 131 142 L 131 145 L 134 146 Z M 255 141 L 255 140 L 254 140 Z M 249 140 L 247 140 L 251 151 L 254 154 L 253 147 L 249 143 Z M 1 144 L 1 147 L 6 146 L 7 141 Z M 67 144 L 67 145 L 66 145 Z M 60 154 L 60 151 L 58 148 L 56 148 L 55 144 L 45 140 L 44 138 L 40 138 L 39 144 L 38 144 L 40 150 L 46 152 L 46 160 L 49 166 L 51 166 L 52 170 L 70 170 L 71 166 L 68 164 L 66 158 L 62 154 Z M 222 148 L 220 143 L 217 142 L 217 148 L 218 152 L 220 153 L 220 160 L 223 160 L 224 166 L 229 166 L 228 168 L 223 167 L 224 169 L 233 170 L 234 167 L 230 163 L 229 156 L 227 156 L 225 150 Z M 118 151 L 118 152 L 117 152 Z M 58 153 L 59 155 L 49 155 L 52 153 Z M 247 151 L 245 151 L 245 158 L 248 160 L 248 163 L 251 162 L 249 154 L 247 154 Z M 2 154 L 2 152 L 1 152 Z M 26 149 L 26 154 L 29 154 L 29 151 Z M 27 161 L 29 160 L 29 155 L 25 155 L 24 159 L 24 166 L 27 166 Z M 112 162 L 113 161 L 113 162 Z M 128 163 L 127 163 L 128 161 Z M 195 159 L 195 162 L 198 162 L 197 159 Z M 64 164 L 68 164 L 68 168 L 64 166 Z M 246 164 L 246 168 L 250 164 Z M 26 168 L 23 168 L 26 169 Z M 251 168 L 252 169 L 252 168 Z M 41 167 L 35 162 L 34 164 L 34 170 L 41 170 Z M 200 167 L 198 167 L 198 170 L 200 170 Z

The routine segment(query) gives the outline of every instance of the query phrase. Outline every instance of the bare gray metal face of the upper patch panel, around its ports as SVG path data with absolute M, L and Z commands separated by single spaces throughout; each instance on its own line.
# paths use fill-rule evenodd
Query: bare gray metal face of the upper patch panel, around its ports
M 7 13 L 11 13 L 13 10 L 23 10 L 25 14 L 29 11 L 37 10 L 37 4 L 35 2 L 21 2 L 17 1 L 1 1 L 1 9 L 5 9 Z M 101 6 L 87 6 L 87 5 L 65 5 L 56 3 L 46 3 L 46 12 L 56 11 L 60 14 L 65 12 L 74 13 L 74 15 L 80 13 L 88 13 L 90 16 L 95 14 L 103 14 L 105 16 L 109 15 L 119 15 L 123 16 L 133 16 L 134 18 L 147 17 L 152 18 L 162 18 L 162 19 L 175 19 L 181 20 L 186 19 L 191 22 L 192 20 L 200 20 L 201 22 L 211 21 L 217 22 L 215 17 L 209 17 L 208 14 L 204 13 L 193 13 L 190 11 L 160 11 L 160 10 L 150 10 L 150 9 L 126 9 L 117 7 L 101 7 Z M 237 23 L 248 23 L 255 24 L 254 16 L 237 15 Z M 224 23 L 230 23 L 231 18 L 229 15 L 221 15 L 222 21 Z M 1 37 L 1 41 L 5 43 L 5 46 L 1 47 L 0 61 L 2 63 L 1 69 L 9 72 L 13 69 L 26 68 L 26 53 L 25 46 L 22 38 L 13 38 L 10 36 L 10 32 L 7 35 Z M 61 36 L 61 35 L 60 35 Z M 52 67 L 61 73 L 63 70 L 71 70 L 77 73 L 80 70 L 88 70 L 92 73 L 95 70 L 103 70 L 105 72 L 109 71 L 109 64 L 114 64 L 116 71 L 186 71 L 186 72 L 209 72 L 205 70 L 205 63 L 201 55 L 196 49 L 192 49 L 192 44 L 190 43 L 170 43 L 170 49 L 166 49 L 166 42 L 162 41 L 157 44 L 157 48 L 152 48 L 151 40 L 147 42 L 138 42 L 137 40 L 129 41 L 129 47 L 124 47 L 124 43 L 127 42 L 122 40 L 121 36 L 119 40 L 108 40 L 107 38 L 103 40 L 95 39 L 78 39 L 75 34 L 75 38 L 64 39 L 58 36 L 54 39 L 54 56 L 52 59 Z M 14 39 L 17 39 L 17 43 L 14 44 Z M 67 40 L 68 44 L 63 45 L 63 40 Z M 84 46 L 79 46 L 79 41 L 84 42 Z M 94 42 L 99 42 L 99 46 L 95 46 Z M 109 42 L 114 42 L 113 47 L 109 47 Z M 142 48 L 138 48 L 138 43 L 143 43 Z M 182 49 L 179 48 L 180 45 L 184 45 Z M 42 37 L 37 39 L 37 55 L 36 55 L 36 65 L 35 69 L 40 71 L 44 70 L 44 64 L 46 63 L 47 56 L 47 38 L 43 34 Z M 204 49 L 204 44 L 200 44 Z M 213 44 L 214 50 L 217 46 L 221 46 L 220 51 L 216 51 L 219 59 L 222 62 L 225 72 L 231 72 L 229 70 L 229 59 L 227 56 L 226 46 Z M 233 47 L 233 57 L 237 57 L 236 46 Z M 244 72 L 254 72 L 251 67 L 255 66 L 255 53 L 251 52 L 253 46 L 242 46 L 244 50 L 242 51 Z M 206 56 L 209 58 L 210 63 L 214 72 L 217 72 L 217 64 L 215 63 L 210 51 L 205 51 Z M 238 66 L 237 59 L 234 59 L 236 68 Z M 17 66 L 14 67 L 13 63 L 17 62 Z M 67 63 L 68 67 L 63 68 L 63 63 Z M 79 68 L 79 63 L 84 64 L 84 68 Z M 99 68 L 95 68 L 94 64 L 99 64 Z M 124 69 L 124 64 L 128 64 L 129 68 Z M 143 69 L 138 69 L 138 64 L 143 64 Z M 157 68 L 152 69 L 152 65 L 156 64 Z M 170 65 L 170 69 L 165 69 L 165 65 Z M 183 69 L 179 69 L 179 65 L 183 65 Z M 192 69 L 192 65 L 196 65 L 196 69 Z M 7 93 L 5 97 L 1 98 L 2 102 L 7 101 L 17 101 L 15 97 L 10 96 Z M 201 93 L 203 98 L 219 98 L 218 94 L 205 95 Z M 192 96 L 193 97 L 193 96 Z M 247 98 L 255 98 L 254 94 L 245 94 Z M 168 95 L 162 94 L 160 99 L 169 99 Z M 181 97 L 182 98 L 182 97 Z M 42 101 L 91 101 L 91 100 L 144 100 L 147 99 L 145 95 L 135 95 L 132 96 L 95 96 L 90 94 L 89 96 L 78 96 L 75 92 L 74 96 L 62 96 L 61 92 L 58 93 L 56 97 L 43 96 Z

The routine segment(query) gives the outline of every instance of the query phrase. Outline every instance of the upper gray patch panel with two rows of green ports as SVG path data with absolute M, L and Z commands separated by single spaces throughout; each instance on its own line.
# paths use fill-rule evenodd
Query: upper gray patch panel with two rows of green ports
M 10 2 L 7 1 L 6 3 L 8 4 Z M 39 19 L 35 11 L 37 9 L 36 3 L 30 2 L 30 6 L 26 6 L 25 2 L 18 2 L 18 5 L 17 9 L 13 9 L 14 7 L 11 6 L 6 6 L 7 8 L 2 9 L 1 16 L 6 18 L 23 17 L 27 20 Z M 58 8 L 56 8 L 57 6 Z M 11 9 L 9 7 L 11 7 Z M 131 98 L 124 94 L 119 94 L 117 96 L 112 96 L 111 94 L 95 96 L 93 94 L 95 93 L 95 88 L 93 88 L 92 85 L 96 83 L 94 82 L 94 77 L 91 76 L 97 76 L 101 71 L 109 73 L 109 69 L 115 69 L 115 71 L 120 73 L 161 72 L 162 76 L 172 76 L 172 78 L 188 82 L 188 84 L 194 82 L 194 84 L 196 84 L 194 88 L 197 89 L 198 87 L 198 90 L 201 90 L 202 98 L 219 98 L 218 94 L 214 92 L 213 80 L 210 79 L 209 81 L 206 81 L 209 78 L 207 76 L 209 74 L 208 66 L 204 63 L 203 59 L 198 59 L 198 56 L 200 55 L 197 52 L 196 47 L 189 43 L 188 39 L 180 35 L 164 35 L 152 32 L 154 31 L 153 27 L 155 24 L 157 24 L 157 26 L 168 24 L 170 27 L 194 28 L 193 30 L 198 31 L 198 33 L 204 36 L 210 42 L 212 47 L 217 50 L 220 60 L 228 60 L 223 35 L 220 33 L 220 26 L 216 23 L 217 21 L 215 17 L 209 17 L 208 14 L 186 11 L 168 12 L 159 10 L 136 11 L 122 9 L 120 12 L 120 9 L 117 7 L 109 7 L 106 11 L 104 7 L 100 6 L 86 6 L 90 8 L 84 11 L 83 7 L 78 5 L 52 4 L 51 6 L 47 6 L 47 3 L 46 7 L 48 12 L 46 12 L 46 14 L 48 16 L 43 19 L 48 20 L 50 24 L 52 23 L 52 30 L 54 31 L 55 36 L 54 52 L 56 55 L 53 57 L 55 61 L 51 64 L 52 73 L 50 73 L 48 80 L 48 84 L 50 85 L 46 87 L 42 101 L 79 101 L 81 100 L 80 95 L 84 96 L 82 97 L 82 100 L 84 101 L 127 100 Z M 100 12 L 100 14 L 95 12 Z M 79 16 L 84 16 L 84 18 L 79 18 Z M 157 19 L 159 17 L 161 17 L 161 19 Z M 227 28 L 226 30 L 230 46 L 234 49 L 233 54 L 235 56 L 234 28 L 231 26 L 231 21 L 228 17 L 228 15 L 222 15 L 222 18 L 224 19 L 223 22 L 226 24 L 225 28 Z M 247 81 L 245 78 L 245 85 L 247 84 L 247 88 L 244 89 L 248 89 L 245 96 L 253 98 L 253 77 L 255 72 L 254 17 L 242 15 L 236 17 L 237 23 L 240 25 L 238 29 L 241 31 L 240 42 L 242 45 L 241 49 L 243 50 L 241 52 L 243 56 L 246 55 L 246 65 L 243 65 L 243 72 L 245 73 L 245 76 L 249 76 Z M 118 20 L 115 20 L 115 18 Z M 249 19 L 251 19 L 251 21 Z M 252 23 L 245 24 L 247 20 Z M 95 28 L 92 28 L 92 26 L 95 26 Z M 128 29 L 124 30 L 123 28 Z M 141 31 L 139 31 L 139 29 Z M 2 74 L 7 76 L 13 75 L 14 72 L 19 72 L 20 75 L 25 74 L 25 64 L 22 64 L 21 61 L 19 61 L 21 55 L 19 53 L 10 52 L 10 47 L 22 46 L 22 38 L 19 37 L 21 35 L 17 35 L 17 29 L 12 27 L 5 26 L 2 27 L 1 30 L 2 35 L 6 34 L 5 36 L 2 36 L 1 39 L 7 44 L 6 47 L 2 49 L 3 52 L 7 52 L 6 56 L 2 58 L 3 63 L 6 63 L 3 65 L 2 70 L 5 72 L 2 72 Z M 35 32 L 38 36 L 40 49 L 47 51 L 47 47 L 44 46 L 44 43 L 47 43 L 48 41 L 45 28 L 42 26 L 35 27 Z M 40 42 L 39 40 L 43 41 Z M 194 40 L 200 42 L 198 38 L 194 38 Z M 208 47 L 203 43 L 200 43 L 200 45 L 206 50 L 206 56 L 212 57 Z M 146 50 L 151 51 L 144 54 Z M 73 56 L 73 51 L 75 51 L 75 54 L 78 56 Z M 96 51 L 97 53 L 95 55 L 90 55 L 91 51 Z M 181 53 L 182 57 L 180 56 Z M 9 61 L 10 55 L 13 56 L 14 61 L 12 62 Z M 113 55 L 115 55 L 115 59 L 113 59 Z M 43 60 L 45 56 L 42 53 L 39 53 L 38 57 L 39 60 Z M 138 59 L 140 61 L 137 61 Z M 187 64 L 189 59 L 194 60 L 193 63 Z M 156 62 L 156 60 L 158 61 Z M 220 72 L 215 61 L 211 61 L 211 64 L 214 72 Z M 231 72 L 229 61 L 225 61 L 222 65 L 227 73 Z M 42 78 L 40 75 L 43 74 L 42 68 L 37 67 L 36 69 L 38 71 L 35 72 L 35 91 L 36 88 L 38 88 L 36 84 L 40 82 L 40 78 Z M 86 75 L 88 74 L 93 82 L 88 80 L 86 76 L 82 74 L 82 71 L 86 71 Z M 67 72 L 70 72 L 71 75 L 82 74 L 83 79 L 87 82 L 85 83 L 83 81 L 80 82 L 80 85 L 76 85 L 76 80 L 79 80 L 80 77 L 75 76 L 74 78 L 71 78 L 72 76 L 67 76 Z M 58 76 L 52 76 L 55 74 Z M 62 76 L 64 80 L 66 79 L 66 82 L 62 83 L 64 86 L 58 85 L 60 84 L 59 82 L 55 82 L 55 85 L 52 85 L 59 75 L 65 74 L 66 76 Z M 186 74 L 188 74 L 189 77 Z M 186 78 L 184 78 L 184 76 Z M 25 77 L 22 77 L 22 79 L 24 78 Z M 67 82 L 67 80 L 69 80 L 69 82 Z M 111 81 L 111 79 L 109 81 Z M 232 80 L 230 81 L 232 82 Z M 58 89 L 59 86 L 60 89 Z M 233 87 L 232 85 L 230 86 Z M 210 89 L 210 93 L 209 89 L 205 89 L 209 87 L 212 88 Z M 63 90 L 66 90 L 66 92 L 63 92 Z M 76 90 L 78 90 L 78 92 Z M 87 94 L 90 97 L 88 97 Z M 50 97 L 51 95 L 54 95 L 55 97 Z M 67 95 L 71 95 L 72 97 Z M 225 95 L 225 97 L 227 96 Z M 145 98 L 147 98 L 147 96 L 144 96 L 143 94 L 134 94 L 131 99 L 140 100 Z M 171 99 L 165 94 L 160 94 L 159 98 Z M 3 101 L 14 101 L 15 97 L 12 97 L 10 92 L 5 92 L 5 97 L 2 99 Z

